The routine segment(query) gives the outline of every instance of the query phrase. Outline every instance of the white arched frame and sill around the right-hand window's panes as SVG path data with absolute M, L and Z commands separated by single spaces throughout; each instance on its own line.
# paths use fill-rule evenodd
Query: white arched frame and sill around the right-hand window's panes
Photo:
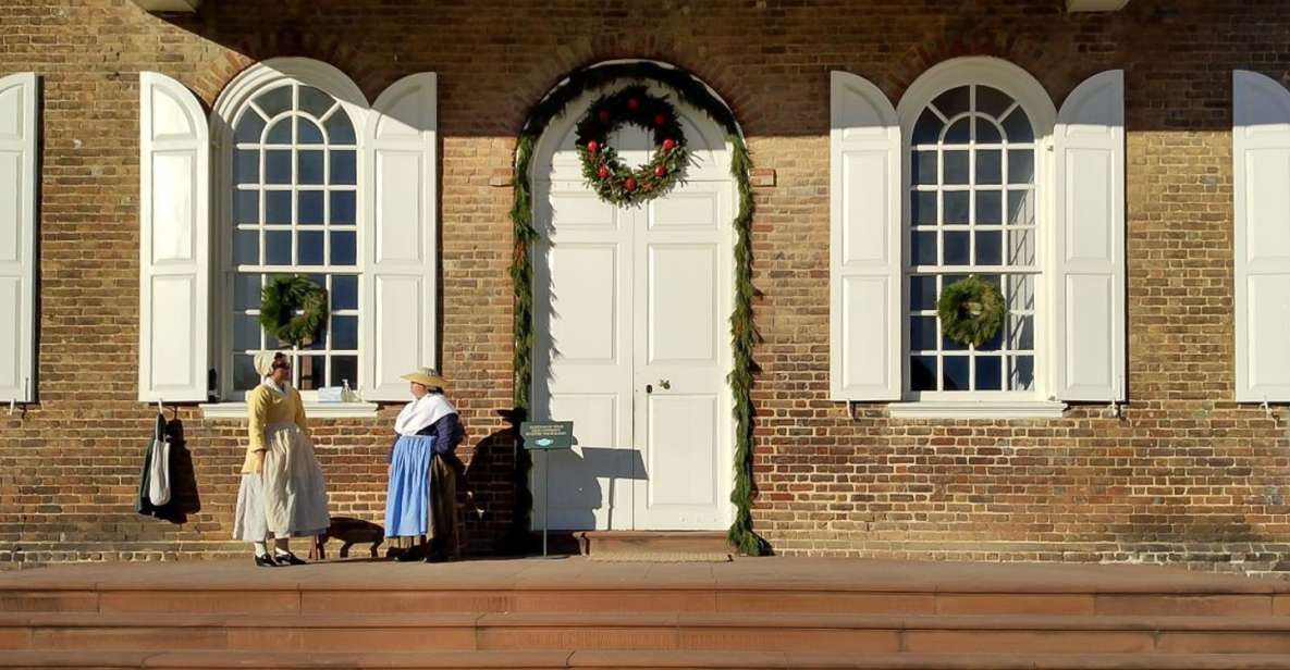
M 1035 383 L 1028 392 L 969 390 L 969 392 L 913 392 L 911 390 L 909 363 L 909 280 L 911 276 L 911 211 L 908 198 L 912 188 L 912 135 L 913 126 L 924 110 L 942 93 L 958 86 L 986 85 L 1017 100 L 1031 119 L 1035 130 L 1035 207 L 1036 207 L 1036 262 L 1035 274 Z M 897 106 L 900 122 L 900 320 L 894 323 L 895 338 L 902 343 L 902 397 L 906 402 L 891 405 L 893 416 L 1060 416 L 1064 405 L 1053 398 L 1053 366 L 1057 348 L 1051 331 L 1051 272 L 1055 267 L 1055 249 L 1051 240 L 1054 220 L 1053 183 L 1053 131 L 1057 108 L 1051 98 L 1031 73 L 1020 67 L 989 57 L 966 57 L 946 61 L 920 76 Z

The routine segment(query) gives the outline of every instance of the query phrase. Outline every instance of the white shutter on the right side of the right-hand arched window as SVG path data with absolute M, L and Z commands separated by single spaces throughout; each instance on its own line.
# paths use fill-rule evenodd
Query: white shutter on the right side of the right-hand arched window
M 1080 84 L 1058 113 L 1054 388 L 1063 401 L 1125 399 L 1124 71 Z

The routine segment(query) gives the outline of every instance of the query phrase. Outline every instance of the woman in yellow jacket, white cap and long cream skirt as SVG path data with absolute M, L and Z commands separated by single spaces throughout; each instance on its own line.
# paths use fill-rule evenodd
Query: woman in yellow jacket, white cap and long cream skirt
M 233 539 L 253 542 L 261 567 L 301 566 L 288 540 L 330 526 L 326 484 L 313 457 L 301 393 L 290 385 L 292 362 L 281 352 L 255 354 L 262 383 L 246 393 L 246 460 L 243 463 Z M 268 539 L 273 539 L 273 554 Z

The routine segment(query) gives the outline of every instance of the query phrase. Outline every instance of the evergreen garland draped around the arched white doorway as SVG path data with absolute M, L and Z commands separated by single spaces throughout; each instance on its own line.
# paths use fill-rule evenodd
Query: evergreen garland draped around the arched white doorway
M 553 119 L 562 115 L 570 102 L 588 90 L 601 89 L 618 81 L 654 81 L 676 93 L 681 102 L 703 111 L 725 130 L 731 146 L 730 175 L 739 189 L 739 207 L 734 216 L 737 235 L 735 303 L 730 314 L 730 339 L 734 367 L 730 370 L 730 390 L 734 394 L 735 457 L 734 491 L 730 501 L 735 505 L 735 519 L 730 526 L 730 542 L 742 554 L 762 555 L 770 545 L 752 530 L 752 379 L 757 365 L 752 359 L 752 347 L 757 341 L 757 329 L 752 318 L 752 160 L 748 147 L 734 119 L 734 113 L 702 81 L 684 70 L 651 62 L 611 63 L 592 66 L 571 73 L 546 98 L 529 111 L 520 130 L 515 149 L 515 202 L 511 223 L 515 227 L 515 251 L 511 262 L 511 281 L 515 287 L 515 406 L 528 416 L 533 389 L 533 259 L 530 251 L 538 241 L 533 227 L 533 182 L 529 174 L 533 151 L 538 138 Z M 516 450 L 516 509 L 515 531 L 528 533 L 529 510 L 533 506 L 528 487 L 531 460 L 525 450 Z

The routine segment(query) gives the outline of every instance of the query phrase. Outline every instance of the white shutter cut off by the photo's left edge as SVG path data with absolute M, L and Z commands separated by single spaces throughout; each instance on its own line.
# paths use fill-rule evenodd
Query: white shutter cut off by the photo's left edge
M 36 394 L 36 75 L 0 77 L 0 401 Z

